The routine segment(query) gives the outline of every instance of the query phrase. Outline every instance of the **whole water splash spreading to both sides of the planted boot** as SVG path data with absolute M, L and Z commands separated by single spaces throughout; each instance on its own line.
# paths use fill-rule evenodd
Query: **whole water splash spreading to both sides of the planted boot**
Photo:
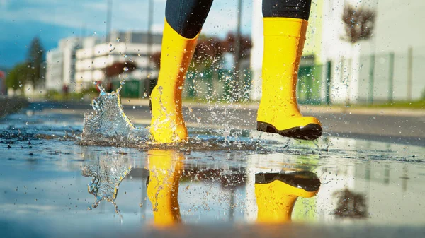
M 249 136 L 235 136 L 231 133 L 224 138 L 220 131 L 217 136 L 211 136 L 212 131 L 202 131 L 197 129 L 198 136 L 189 138 L 188 143 L 171 143 L 168 145 L 157 144 L 152 140 L 152 136 L 147 128 L 136 128 L 123 110 L 120 100 L 120 90 L 125 84 L 125 78 L 120 83 L 120 88 L 111 93 L 107 93 L 102 85 L 96 81 L 94 85 L 100 90 L 100 94 L 92 100 L 94 111 L 84 114 L 84 126 L 80 145 L 113 145 L 132 148 L 154 148 L 178 146 L 182 150 L 267 150 L 263 146 L 261 139 L 249 138 Z M 161 101 L 160 101 L 161 102 Z M 160 103 L 162 105 L 162 103 Z M 165 112 L 165 107 L 163 107 Z M 159 122 L 157 122 L 158 124 Z M 210 136 L 203 136 L 203 133 Z M 244 133 L 239 131 L 239 133 Z M 234 133 L 232 133 L 234 134 Z M 242 135 L 242 134 L 241 134 Z

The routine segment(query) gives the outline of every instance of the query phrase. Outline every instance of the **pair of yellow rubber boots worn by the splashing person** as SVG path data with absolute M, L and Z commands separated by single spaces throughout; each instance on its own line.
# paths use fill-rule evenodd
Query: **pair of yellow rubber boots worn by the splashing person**
M 263 18 L 263 23 L 263 95 L 257 130 L 314 140 L 322 135 L 322 125 L 314 117 L 302 117 L 296 97 L 307 20 Z M 182 37 L 167 22 L 163 34 L 161 69 L 151 95 L 150 132 L 157 143 L 176 143 L 188 140 L 181 113 L 181 93 L 198 35 L 193 39 Z

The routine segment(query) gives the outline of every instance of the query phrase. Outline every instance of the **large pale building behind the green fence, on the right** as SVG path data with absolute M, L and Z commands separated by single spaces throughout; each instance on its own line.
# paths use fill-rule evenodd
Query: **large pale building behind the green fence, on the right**
M 369 40 L 352 45 L 342 39 L 345 33 L 342 14 L 346 3 L 375 11 L 375 29 Z M 425 33 L 420 30 L 425 20 L 421 13 L 424 6 L 424 1 L 414 0 L 313 1 L 304 54 L 314 55 L 316 65 L 331 62 L 331 102 L 368 102 L 370 98 L 375 102 L 419 100 L 424 97 L 425 78 L 421 65 L 425 63 Z M 254 45 L 251 98 L 259 100 L 263 54 L 260 0 L 253 0 L 251 34 Z M 327 72 L 323 71 L 322 98 L 327 88 Z

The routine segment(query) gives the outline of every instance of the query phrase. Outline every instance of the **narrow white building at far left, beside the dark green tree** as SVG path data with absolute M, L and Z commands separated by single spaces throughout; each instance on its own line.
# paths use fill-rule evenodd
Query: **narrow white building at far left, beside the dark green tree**
M 64 85 L 74 90 L 75 52 L 79 48 L 79 37 L 62 39 L 57 48 L 47 52 L 46 89 L 62 90 Z

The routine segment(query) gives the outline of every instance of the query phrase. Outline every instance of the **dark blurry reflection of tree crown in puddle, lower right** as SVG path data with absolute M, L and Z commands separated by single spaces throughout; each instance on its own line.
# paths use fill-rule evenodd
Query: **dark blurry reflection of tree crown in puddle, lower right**
M 358 218 L 368 217 L 368 206 L 363 194 L 357 194 L 348 189 L 336 191 L 333 196 L 339 197 L 334 215 L 338 218 Z

